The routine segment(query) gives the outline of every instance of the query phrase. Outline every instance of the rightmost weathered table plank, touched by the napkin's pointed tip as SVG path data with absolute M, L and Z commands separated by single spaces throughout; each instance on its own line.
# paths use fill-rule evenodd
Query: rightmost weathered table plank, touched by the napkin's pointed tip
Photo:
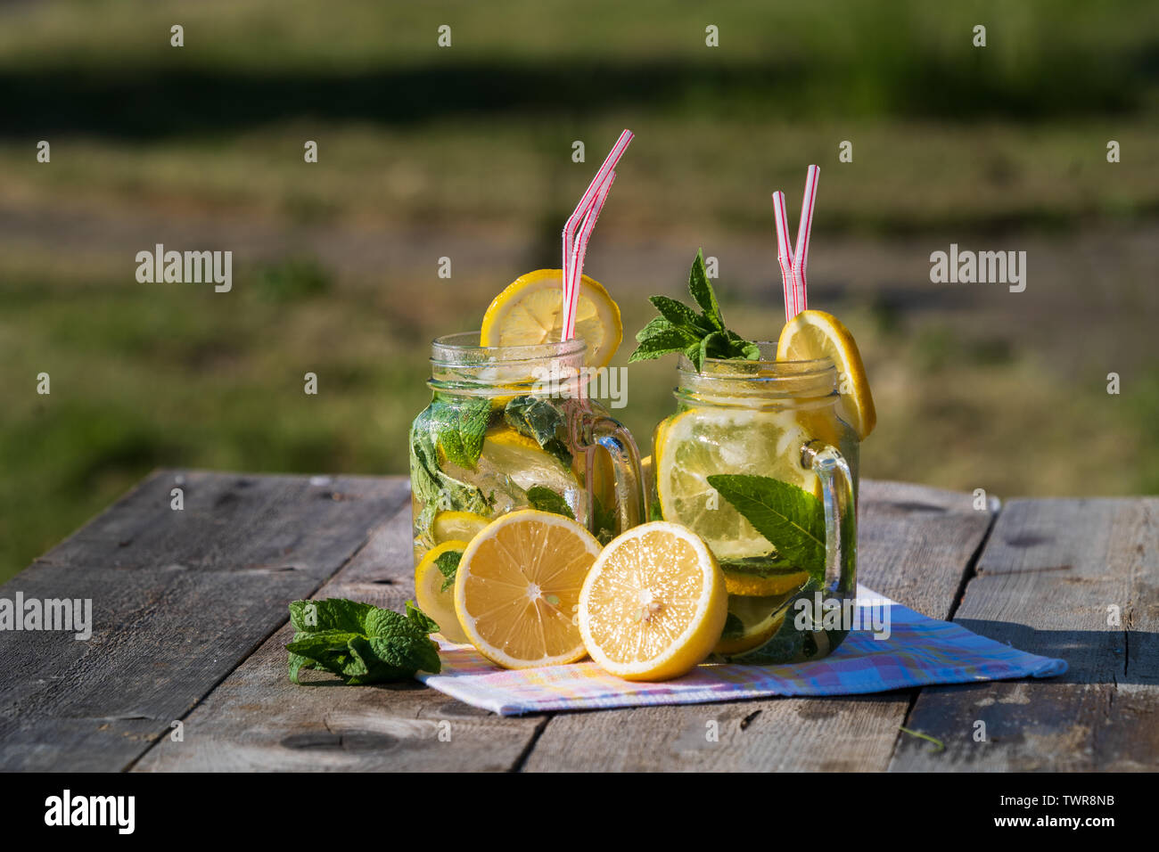
M 1060 678 L 923 691 L 903 771 L 1159 770 L 1159 498 L 1009 503 L 955 621 L 1067 661 Z M 1108 607 L 1121 625 L 1108 625 Z M 985 741 L 975 741 L 976 723 Z

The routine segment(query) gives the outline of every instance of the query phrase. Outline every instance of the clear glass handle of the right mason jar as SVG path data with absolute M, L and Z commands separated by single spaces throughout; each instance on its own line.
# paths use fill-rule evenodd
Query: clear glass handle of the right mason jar
M 801 447 L 801 465 L 821 479 L 825 505 L 825 592 L 852 599 L 858 591 L 858 522 L 848 463 L 837 447 L 811 440 Z

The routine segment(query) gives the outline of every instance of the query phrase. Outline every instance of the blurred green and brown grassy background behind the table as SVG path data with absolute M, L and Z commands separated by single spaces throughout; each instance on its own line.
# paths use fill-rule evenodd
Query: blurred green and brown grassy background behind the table
M 404 473 L 430 338 L 559 265 L 624 128 L 585 267 L 615 364 L 701 246 L 775 338 L 768 196 L 795 230 L 816 162 L 810 306 L 867 362 L 865 475 L 1159 490 L 1154 2 L 0 3 L 0 580 L 156 466 Z M 158 242 L 232 250 L 233 291 L 137 283 Z M 1026 291 L 932 284 L 950 242 L 1026 250 Z M 628 371 L 642 445 L 672 373 Z

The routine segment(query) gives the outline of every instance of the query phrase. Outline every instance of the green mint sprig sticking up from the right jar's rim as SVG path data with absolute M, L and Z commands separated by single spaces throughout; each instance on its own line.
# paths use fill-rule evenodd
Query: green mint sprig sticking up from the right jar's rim
M 724 327 L 720 303 L 708 282 L 702 249 L 697 252 L 688 270 L 688 293 L 700 311 L 666 296 L 648 297 L 659 316 L 636 334 L 639 345 L 628 363 L 684 352 L 697 370 L 701 370 L 705 358 L 756 361 L 760 357 L 760 348 L 756 343 Z

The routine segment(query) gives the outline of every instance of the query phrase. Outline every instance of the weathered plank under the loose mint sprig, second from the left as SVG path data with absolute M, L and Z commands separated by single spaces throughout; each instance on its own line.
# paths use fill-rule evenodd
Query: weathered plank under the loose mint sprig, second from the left
M 396 610 L 413 598 L 409 505 L 314 597 Z M 309 672 L 325 685 L 294 686 L 292 635 L 275 633 L 189 714 L 183 742 L 159 742 L 134 771 L 508 770 L 546 721 L 500 719 L 417 682 L 345 687 Z

